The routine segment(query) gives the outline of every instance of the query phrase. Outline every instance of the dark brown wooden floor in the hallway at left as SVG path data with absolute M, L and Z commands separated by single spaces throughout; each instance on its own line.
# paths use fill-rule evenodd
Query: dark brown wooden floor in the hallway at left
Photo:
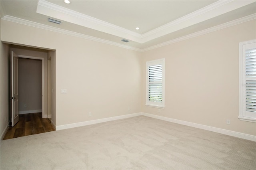
M 42 113 L 22 114 L 14 127 L 8 127 L 3 140 L 50 131 L 54 131 L 54 127 L 49 119 L 42 118 Z

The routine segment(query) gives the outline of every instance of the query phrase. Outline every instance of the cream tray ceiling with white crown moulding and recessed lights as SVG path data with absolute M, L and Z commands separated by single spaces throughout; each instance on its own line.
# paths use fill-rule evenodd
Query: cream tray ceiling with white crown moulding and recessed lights
M 1 0 L 1 18 L 143 51 L 256 18 L 256 0 Z M 62 21 L 48 22 L 48 18 Z M 139 27 L 139 30 L 135 28 Z M 122 39 L 129 42 L 122 42 Z

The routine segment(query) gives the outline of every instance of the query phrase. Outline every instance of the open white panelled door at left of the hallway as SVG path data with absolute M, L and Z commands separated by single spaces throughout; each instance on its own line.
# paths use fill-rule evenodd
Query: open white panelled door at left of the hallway
M 19 57 L 12 51 L 11 56 L 11 98 L 12 98 L 12 127 L 19 121 L 19 114 L 18 114 L 18 101 L 19 101 L 19 94 L 18 94 L 18 63 Z

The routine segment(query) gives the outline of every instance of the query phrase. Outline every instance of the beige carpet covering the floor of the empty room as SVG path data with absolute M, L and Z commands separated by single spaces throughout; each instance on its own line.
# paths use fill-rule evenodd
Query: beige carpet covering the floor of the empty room
M 4 169 L 256 169 L 256 142 L 139 116 L 2 140 Z

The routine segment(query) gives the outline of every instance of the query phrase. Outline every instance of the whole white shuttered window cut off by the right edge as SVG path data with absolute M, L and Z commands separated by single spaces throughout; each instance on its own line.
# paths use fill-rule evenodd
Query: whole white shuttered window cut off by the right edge
M 256 40 L 239 43 L 239 119 L 256 122 Z

